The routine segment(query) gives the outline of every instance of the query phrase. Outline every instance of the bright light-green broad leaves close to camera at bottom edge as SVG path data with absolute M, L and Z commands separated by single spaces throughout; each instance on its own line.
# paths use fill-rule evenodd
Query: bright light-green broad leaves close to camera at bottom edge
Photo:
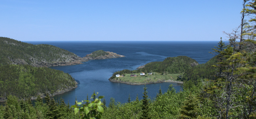
M 97 95 L 93 94 L 91 99 L 94 98 L 93 96 Z M 103 103 L 100 101 L 102 98 L 103 96 L 99 96 L 93 101 L 84 100 L 82 102 L 76 102 L 76 104 L 71 107 L 74 108 L 75 114 L 79 114 L 80 119 L 100 119 L 104 112 L 104 109 L 102 108 Z M 86 102 L 90 103 L 86 105 Z

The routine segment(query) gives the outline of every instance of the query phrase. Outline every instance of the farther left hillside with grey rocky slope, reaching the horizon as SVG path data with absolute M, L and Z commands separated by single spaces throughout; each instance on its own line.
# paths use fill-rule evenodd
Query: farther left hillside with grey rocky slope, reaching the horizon
M 83 59 L 67 50 L 46 44 L 33 45 L 0 37 L 0 64 L 29 64 L 34 67 L 81 64 Z

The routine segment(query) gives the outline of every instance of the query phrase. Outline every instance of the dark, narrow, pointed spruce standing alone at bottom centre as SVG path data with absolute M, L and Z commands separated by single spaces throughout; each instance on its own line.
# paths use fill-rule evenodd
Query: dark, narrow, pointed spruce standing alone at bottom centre
M 142 115 L 141 115 L 141 119 L 150 119 L 150 115 L 149 115 L 149 99 L 148 99 L 148 91 L 145 87 L 143 88 L 144 92 L 143 92 L 143 99 L 142 99 Z

